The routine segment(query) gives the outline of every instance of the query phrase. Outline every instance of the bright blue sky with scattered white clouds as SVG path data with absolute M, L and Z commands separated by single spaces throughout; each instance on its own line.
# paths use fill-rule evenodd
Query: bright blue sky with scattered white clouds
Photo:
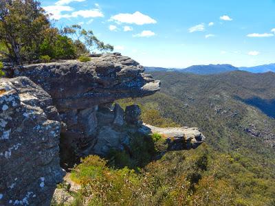
M 150 67 L 275 62 L 275 0 L 42 0 L 56 27 L 80 24 Z

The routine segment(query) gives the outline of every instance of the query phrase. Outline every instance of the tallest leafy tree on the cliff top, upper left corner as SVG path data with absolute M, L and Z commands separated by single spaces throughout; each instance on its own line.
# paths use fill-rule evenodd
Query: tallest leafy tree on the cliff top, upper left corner
M 8 52 L 1 50 L 14 62 L 33 60 L 39 56 L 39 45 L 50 28 L 50 21 L 36 0 L 3 0 L 0 3 L 0 42 Z

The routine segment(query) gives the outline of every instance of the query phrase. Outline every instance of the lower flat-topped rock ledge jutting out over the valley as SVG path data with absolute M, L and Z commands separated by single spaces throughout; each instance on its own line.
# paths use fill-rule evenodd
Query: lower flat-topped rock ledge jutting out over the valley
M 162 135 L 166 139 L 166 144 L 168 144 L 168 151 L 195 149 L 206 139 L 198 128 L 159 128 L 144 124 L 140 131 L 145 134 L 157 133 Z

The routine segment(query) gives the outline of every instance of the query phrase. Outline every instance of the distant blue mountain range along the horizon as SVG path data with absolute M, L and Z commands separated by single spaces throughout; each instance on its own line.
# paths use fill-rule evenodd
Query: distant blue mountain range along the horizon
M 225 73 L 230 71 L 249 71 L 252 73 L 265 73 L 268 71 L 275 72 L 275 64 L 270 65 L 260 65 L 256 67 L 234 67 L 232 65 L 194 65 L 187 67 L 185 69 L 175 69 L 175 68 L 162 68 L 162 67 L 145 67 L 147 72 L 152 71 L 177 71 L 180 73 L 195 73 L 200 75 Z

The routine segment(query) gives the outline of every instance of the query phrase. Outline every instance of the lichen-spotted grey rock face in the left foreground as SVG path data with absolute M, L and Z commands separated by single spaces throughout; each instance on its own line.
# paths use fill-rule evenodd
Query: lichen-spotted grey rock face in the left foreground
M 0 205 L 50 205 L 61 123 L 52 98 L 28 78 L 0 79 Z

